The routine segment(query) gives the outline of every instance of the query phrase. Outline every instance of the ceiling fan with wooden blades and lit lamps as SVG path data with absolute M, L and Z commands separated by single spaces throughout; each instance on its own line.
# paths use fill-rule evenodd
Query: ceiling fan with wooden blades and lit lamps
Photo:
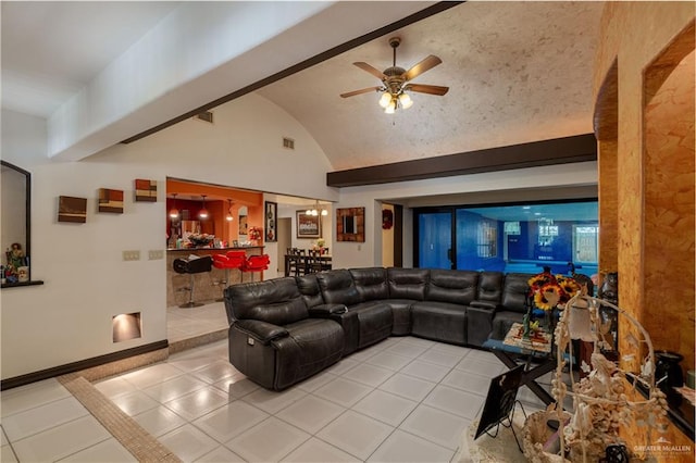
M 340 97 L 348 98 L 356 95 L 369 93 L 370 91 L 378 91 L 382 92 L 382 97 L 380 98 L 380 105 L 384 108 L 385 113 L 394 114 L 397 108 L 408 109 L 413 104 L 413 100 L 411 100 L 411 97 L 407 93 L 407 91 L 418 91 L 420 93 L 438 96 L 447 93 L 449 87 L 409 83 L 409 80 L 414 79 L 419 75 L 432 70 L 433 67 L 442 63 L 443 60 L 431 54 L 410 70 L 406 71 L 403 67 L 399 67 L 396 65 L 396 49 L 400 43 L 401 39 L 399 37 L 391 37 L 389 39 L 389 46 L 391 46 L 391 49 L 394 50 L 394 63 L 390 67 L 384 70 L 384 72 L 361 61 L 353 63 L 356 66 L 369 72 L 370 74 L 382 80 L 382 85 L 363 88 L 360 90 L 353 90 L 347 93 L 340 93 Z

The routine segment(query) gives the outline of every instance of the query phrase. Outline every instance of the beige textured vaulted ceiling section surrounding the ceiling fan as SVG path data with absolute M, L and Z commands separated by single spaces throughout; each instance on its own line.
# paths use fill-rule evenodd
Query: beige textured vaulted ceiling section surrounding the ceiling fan
M 467 2 L 311 68 L 258 93 L 298 118 L 335 170 L 428 158 L 592 132 L 592 68 L 602 2 Z M 401 37 L 397 65 L 428 54 L 443 64 L 413 83 L 449 86 L 444 97 L 382 112 L 380 85 L 351 63 L 391 65 L 388 38 Z

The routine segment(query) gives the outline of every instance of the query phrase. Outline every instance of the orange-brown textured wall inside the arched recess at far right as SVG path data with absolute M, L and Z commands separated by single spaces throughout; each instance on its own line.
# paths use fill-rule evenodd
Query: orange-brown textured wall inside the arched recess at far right
M 694 368 L 694 32 L 691 53 L 672 43 L 645 73 L 643 326 L 658 349 L 682 353 Z M 688 46 L 686 43 L 685 46 Z M 666 59 L 667 63 L 664 63 Z M 679 61 L 678 61 L 679 60 Z M 666 78 L 662 74 L 669 72 Z M 655 87 L 654 88 L 654 84 Z M 668 306 L 669 305 L 669 306 Z M 684 329 L 691 327 L 692 329 Z M 691 355 L 688 353 L 692 353 Z

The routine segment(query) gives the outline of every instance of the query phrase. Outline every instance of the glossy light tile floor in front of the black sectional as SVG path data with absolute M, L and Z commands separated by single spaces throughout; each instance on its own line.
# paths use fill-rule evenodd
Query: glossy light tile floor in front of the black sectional
M 187 462 L 448 462 L 504 370 L 488 352 L 394 337 L 273 392 L 222 340 L 96 387 Z M 519 398 L 542 406 L 526 388 Z M 133 461 L 55 379 L 1 403 L 3 462 Z

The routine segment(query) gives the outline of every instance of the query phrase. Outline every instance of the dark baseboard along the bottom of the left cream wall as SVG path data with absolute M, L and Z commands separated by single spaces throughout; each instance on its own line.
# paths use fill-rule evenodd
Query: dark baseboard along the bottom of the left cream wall
M 99 356 L 94 356 L 91 359 L 79 360 L 77 362 L 67 363 L 65 365 L 53 366 L 51 368 L 27 373 L 26 375 L 2 379 L 0 381 L 0 390 L 12 389 L 15 387 L 28 385 L 30 383 L 53 378 L 55 376 L 62 376 L 69 373 L 75 373 L 83 370 L 92 368 L 95 366 L 104 365 L 111 362 L 117 362 L 120 360 L 128 359 L 135 355 L 140 355 L 144 353 L 153 352 L 160 349 L 167 349 L 169 345 L 170 345 L 169 341 L 166 339 L 163 339 L 161 341 L 150 342 L 148 345 L 138 346 L 132 349 L 120 350 L 117 352 L 108 353 L 105 355 L 99 355 Z

